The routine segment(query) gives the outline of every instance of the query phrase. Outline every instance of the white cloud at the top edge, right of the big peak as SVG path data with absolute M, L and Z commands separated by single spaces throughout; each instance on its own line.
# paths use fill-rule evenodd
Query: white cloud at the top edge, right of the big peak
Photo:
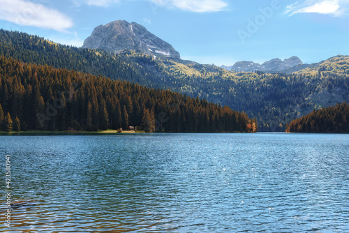
M 216 12 L 223 10 L 228 3 L 221 0 L 151 0 L 163 6 L 189 10 L 198 13 Z

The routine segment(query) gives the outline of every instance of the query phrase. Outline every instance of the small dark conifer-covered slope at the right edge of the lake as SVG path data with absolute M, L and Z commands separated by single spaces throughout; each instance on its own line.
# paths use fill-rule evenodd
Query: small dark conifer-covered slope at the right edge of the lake
M 349 133 L 349 105 L 337 104 L 313 110 L 310 114 L 291 121 L 288 133 Z

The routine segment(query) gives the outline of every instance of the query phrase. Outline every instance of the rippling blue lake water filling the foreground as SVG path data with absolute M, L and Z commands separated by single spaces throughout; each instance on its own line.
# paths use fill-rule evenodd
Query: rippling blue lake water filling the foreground
M 349 232 L 348 151 L 349 135 L 3 135 L 0 232 Z

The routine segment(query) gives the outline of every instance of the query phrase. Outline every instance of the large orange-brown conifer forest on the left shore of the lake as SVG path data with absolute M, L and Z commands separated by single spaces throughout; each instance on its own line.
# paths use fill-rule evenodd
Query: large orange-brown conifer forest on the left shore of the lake
M 169 90 L 0 57 L 0 130 L 254 132 L 255 120 Z

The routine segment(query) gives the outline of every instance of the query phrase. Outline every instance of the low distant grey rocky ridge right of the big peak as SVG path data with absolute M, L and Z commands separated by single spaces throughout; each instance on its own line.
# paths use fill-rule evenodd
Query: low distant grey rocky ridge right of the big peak
M 270 61 L 265 61 L 262 65 L 254 63 L 253 61 L 238 61 L 234 66 L 221 66 L 221 68 L 235 72 L 253 72 L 255 70 L 264 72 L 281 72 L 302 64 L 303 62 L 298 57 L 290 57 L 283 61 L 278 58 L 272 59 Z

